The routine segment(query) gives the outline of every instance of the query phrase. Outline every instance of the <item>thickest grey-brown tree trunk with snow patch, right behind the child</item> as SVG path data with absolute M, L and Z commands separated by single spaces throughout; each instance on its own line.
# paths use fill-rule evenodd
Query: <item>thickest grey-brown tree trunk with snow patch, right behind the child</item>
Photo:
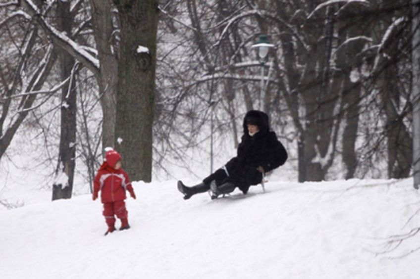
M 150 182 L 158 1 L 113 2 L 120 22 L 115 147 L 130 178 Z

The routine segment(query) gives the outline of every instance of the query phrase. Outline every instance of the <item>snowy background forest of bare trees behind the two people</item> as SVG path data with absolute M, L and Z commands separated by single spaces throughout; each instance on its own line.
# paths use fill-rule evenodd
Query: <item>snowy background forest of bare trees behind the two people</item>
M 244 114 L 261 109 L 289 152 L 289 179 L 407 178 L 413 10 L 409 0 L 2 0 L 2 172 L 26 150 L 56 197 L 70 197 L 74 174 L 91 182 L 114 146 L 133 180 L 208 174 L 234 154 Z M 275 46 L 263 65 L 252 49 L 261 34 Z

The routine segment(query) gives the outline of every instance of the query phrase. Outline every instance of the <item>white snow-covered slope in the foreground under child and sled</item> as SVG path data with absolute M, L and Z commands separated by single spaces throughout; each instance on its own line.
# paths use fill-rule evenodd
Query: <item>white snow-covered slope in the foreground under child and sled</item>
M 380 254 L 420 226 L 407 223 L 420 208 L 412 180 L 269 182 L 214 201 L 184 201 L 175 185 L 135 183 L 132 228 L 107 236 L 90 195 L 2 210 L 1 278 L 419 278 L 420 251 L 400 257 L 419 235 Z

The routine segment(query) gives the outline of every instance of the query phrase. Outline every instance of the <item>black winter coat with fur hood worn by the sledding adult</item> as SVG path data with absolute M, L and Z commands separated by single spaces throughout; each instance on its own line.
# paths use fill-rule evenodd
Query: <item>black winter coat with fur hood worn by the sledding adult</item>
M 254 136 L 248 134 L 248 124 L 259 127 L 259 132 Z M 225 169 L 229 177 L 223 181 L 217 181 L 220 177 L 210 176 L 207 180 L 216 179 L 217 185 L 232 182 L 244 193 L 248 192 L 251 185 L 257 185 L 262 181 L 262 173 L 257 168 L 261 166 L 264 172 L 269 172 L 287 160 L 287 152 L 283 144 L 277 139 L 274 132 L 269 130 L 268 116 L 257 110 L 249 111 L 244 118 L 244 135 L 238 146 L 237 156 L 225 164 Z M 224 170 L 219 170 L 221 173 Z M 205 181 L 206 182 L 206 181 Z

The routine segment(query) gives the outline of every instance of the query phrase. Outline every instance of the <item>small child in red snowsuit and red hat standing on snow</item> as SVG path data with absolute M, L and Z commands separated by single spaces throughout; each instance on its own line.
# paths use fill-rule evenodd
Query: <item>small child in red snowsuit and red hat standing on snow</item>
M 115 231 L 115 217 L 121 220 L 121 230 L 130 229 L 128 225 L 128 212 L 125 208 L 125 190 L 128 190 L 130 196 L 136 199 L 133 186 L 127 173 L 121 168 L 121 155 L 115 150 L 109 150 L 105 153 L 105 160 L 99 168 L 98 174 L 94 180 L 94 190 L 92 199 L 98 198 L 98 192 L 101 190 L 101 201 L 104 204 L 103 215 L 105 216 L 108 230 L 105 235 Z

